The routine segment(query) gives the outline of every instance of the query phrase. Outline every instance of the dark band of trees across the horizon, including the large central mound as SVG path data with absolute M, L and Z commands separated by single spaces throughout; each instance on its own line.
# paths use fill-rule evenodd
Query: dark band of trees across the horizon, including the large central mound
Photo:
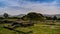
M 4 18 L 22 19 L 22 20 L 60 20 L 60 18 L 57 18 L 57 16 L 48 17 L 48 16 L 44 16 L 41 13 L 36 13 L 36 12 L 30 12 L 23 17 L 17 17 L 17 16 L 16 17 L 9 17 L 8 13 L 4 13 L 3 17 L 0 17 L 0 19 L 4 19 Z

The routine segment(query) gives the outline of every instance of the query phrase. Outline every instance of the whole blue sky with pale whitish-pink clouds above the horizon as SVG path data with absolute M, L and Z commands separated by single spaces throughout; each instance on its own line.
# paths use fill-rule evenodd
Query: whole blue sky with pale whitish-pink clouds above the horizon
M 60 14 L 60 0 L 0 0 L 0 14 Z

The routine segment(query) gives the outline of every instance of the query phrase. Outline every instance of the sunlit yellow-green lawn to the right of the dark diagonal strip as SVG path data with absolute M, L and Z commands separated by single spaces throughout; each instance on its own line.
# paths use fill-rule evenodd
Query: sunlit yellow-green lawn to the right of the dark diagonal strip
M 42 24 L 35 24 L 32 27 L 27 28 L 17 28 L 17 30 L 21 31 L 30 31 L 32 30 L 32 34 L 60 34 L 60 27 L 56 27 L 55 25 L 42 25 Z

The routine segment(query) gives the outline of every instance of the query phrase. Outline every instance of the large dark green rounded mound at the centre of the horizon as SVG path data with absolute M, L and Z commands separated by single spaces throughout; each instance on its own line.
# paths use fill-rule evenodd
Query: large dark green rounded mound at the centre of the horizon
M 40 13 L 30 12 L 26 15 L 29 20 L 42 20 L 44 16 Z

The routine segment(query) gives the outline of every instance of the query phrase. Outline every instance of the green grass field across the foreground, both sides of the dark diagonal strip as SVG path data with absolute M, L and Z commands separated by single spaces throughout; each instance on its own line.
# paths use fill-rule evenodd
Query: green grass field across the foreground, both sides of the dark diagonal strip
M 0 34 L 22 34 L 13 30 L 5 29 L 3 26 L 8 26 L 10 24 L 0 24 Z M 60 23 L 56 22 L 55 25 L 47 25 L 45 22 L 36 23 L 34 26 L 30 27 L 18 27 L 15 30 L 22 32 L 32 33 L 27 34 L 60 34 Z

